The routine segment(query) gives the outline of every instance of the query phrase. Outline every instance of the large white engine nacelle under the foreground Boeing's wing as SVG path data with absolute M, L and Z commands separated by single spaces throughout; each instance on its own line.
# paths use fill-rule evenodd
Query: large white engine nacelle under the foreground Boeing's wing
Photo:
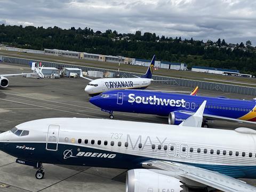
M 126 175 L 126 192 L 186 192 L 179 179 L 164 175 L 159 170 L 134 169 Z

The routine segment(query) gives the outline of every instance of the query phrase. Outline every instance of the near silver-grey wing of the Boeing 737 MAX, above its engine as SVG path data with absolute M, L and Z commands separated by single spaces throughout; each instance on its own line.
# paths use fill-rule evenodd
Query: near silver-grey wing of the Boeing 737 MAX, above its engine
M 226 192 L 246 192 L 256 191 L 256 187 L 248 185 L 246 182 L 231 178 L 225 174 L 202 169 L 183 163 L 174 163 L 167 161 L 148 161 L 142 163 L 146 169 L 164 170 L 163 174 L 172 173 L 174 177 L 179 179 L 188 179 L 191 181 L 202 183 L 203 185 L 219 189 Z

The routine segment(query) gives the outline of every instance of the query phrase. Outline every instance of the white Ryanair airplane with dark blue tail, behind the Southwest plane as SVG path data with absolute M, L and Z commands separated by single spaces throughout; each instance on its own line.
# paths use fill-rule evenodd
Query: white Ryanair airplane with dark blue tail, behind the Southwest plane
M 156 81 L 154 79 L 151 79 L 152 73 L 154 70 L 154 65 L 155 65 L 155 58 L 156 58 L 156 55 L 154 55 L 153 59 L 151 60 L 146 74 L 143 75 L 142 77 L 100 78 L 100 79 L 94 79 L 94 80 L 87 77 L 83 77 L 91 81 L 85 87 L 84 91 L 87 94 L 94 96 L 108 90 L 146 89 L 146 87 L 148 87 L 152 81 Z

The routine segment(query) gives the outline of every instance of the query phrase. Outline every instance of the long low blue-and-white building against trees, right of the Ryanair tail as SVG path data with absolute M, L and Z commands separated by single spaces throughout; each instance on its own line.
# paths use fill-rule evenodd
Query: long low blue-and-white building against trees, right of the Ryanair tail
M 193 66 L 191 71 L 200 72 L 200 73 L 211 73 L 211 74 L 227 74 L 227 75 L 239 75 L 239 70 L 232 69 L 221 69 L 214 67 L 201 67 L 201 66 Z

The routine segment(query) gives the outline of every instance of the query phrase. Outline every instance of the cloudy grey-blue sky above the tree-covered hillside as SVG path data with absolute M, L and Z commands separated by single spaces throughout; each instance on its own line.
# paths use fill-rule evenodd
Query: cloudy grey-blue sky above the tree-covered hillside
M 0 0 L 0 23 L 256 45 L 255 0 Z

